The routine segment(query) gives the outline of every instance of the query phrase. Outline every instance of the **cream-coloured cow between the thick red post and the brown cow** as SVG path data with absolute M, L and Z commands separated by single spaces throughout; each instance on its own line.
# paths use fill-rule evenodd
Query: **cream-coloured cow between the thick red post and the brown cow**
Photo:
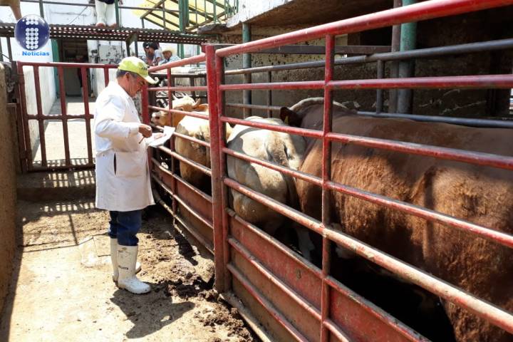
M 252 116 L 247 120 L 271 125 L 285 125 L 282 120 L 277 118 Z M 237 152 L 294 170 L 298 169 L 305 151 L 304 138 L 298 135 L 250 128 L 244 125 L 236 125 L 233 128 L 227 146 Z M 229 177 L 242 185 L 291 207 L 297 207 L 298 199 L 293 177 L 229 155 L 227 156 L 227 172 Z M 231 194 L 231 207 L 234 211 L 247 222 L 264 229 L 268 234 L 274 235 L 276 229 L 284 223 L 284 217 L 273 209 L 255 202 L 235 190 L 231 190 Z M 297 233 L 300 242 L 299 248 L 304 257 L 310 259 L 313 245 L 308 237 L 308 232 L 297 227 Z

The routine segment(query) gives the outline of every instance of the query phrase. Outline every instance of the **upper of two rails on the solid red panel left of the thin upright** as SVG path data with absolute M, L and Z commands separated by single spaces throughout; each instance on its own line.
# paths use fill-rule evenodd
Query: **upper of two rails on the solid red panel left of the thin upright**
M 263 275 L 267 280 L 269 280 L 272 284 L 274 284 L 276 287 L 281 289 L 281 291 L 284 291 L 284 293 L 289 296 L 289 298 L 293 299 L 296 304 L 301 306 L 301 308 L 305 309 L 311 316 L 316 318 L 317 321 L 321 321 L 321 311 L 319 311 L 315 306 L 310 304 L 309 301 L 304 299 L 303 296 L 298 294 L 294 289 L 291 289 L 290 286 L 285 284 L 281 279 L 277 278 L 269 269 L 266 269 L 266 267 L 261 264 L 260 261 L 257 260 L 254 255 L 249 252 L 240 242 L 237 241 L 237 239 L 234 239 L 233 237 L 228 238 L 228 243 L 237 251 L 239 254 L 246 259 L 249 264 L 252 264 L 255 269 L 257 269 L 261 275 Z

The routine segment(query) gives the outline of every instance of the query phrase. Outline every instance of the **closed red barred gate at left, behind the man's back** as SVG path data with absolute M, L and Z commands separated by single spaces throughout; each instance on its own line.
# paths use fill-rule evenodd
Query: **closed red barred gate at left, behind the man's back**
M 24 68 L 31 67 L 31 68 Z M 43 108 L 43 98 L 51 98 L 52 94 L 48 89 L 48 84 L 41 84 L 42 68 L 51 68 L 58 79 L 58 101 L 59 104 L 52 103 L 50 108 Z M 44 171 L 44 170 L 69 170 L 93 168 L 93 142 L 90 131 L 90 124 L 93 115 L 89 108 L 88 80 L 90 73 L 100 69 L 103 70 L 105 86 L 109 82 L 109 69 L 117 68 L 114 65 L 92 64 L 92 63 L 35 63 L 35 62 L 17 62 L 17 71 L 19 76 L 19 96 L 21 103 L 21 123 L 19 123 L 19 146 L 21 152 L 21 167 L 23 172 Z M 81 98 L 78 98 L 81 105 L 77 105 L 73 110 L 68 110 L 69 98 L 66 97 L 66 83 L 64 73 L 68 69 L 78 69 L 81 80 L 83 80 Z M 26 78 L 26 73 L 32 73 L 32 78 Z M 33 86 L 32 86 L 33 81 Z M 53 77 L 48 81 L 53 83 Z M 28 86 L 31 83 L 31 86 Z M 29 110 L 36 102 L 35 108 Z M 57 98 L 56 98 L 57 101 Z M 46 106 L 48 107 L 48 105 Z M 80 111 L 78 111 L 80 110 Z M 29 111 L 35 113 L 29 113 Z M 70 137 L 69 124 L 83 120 L 85 131 L 78 135 Z M 61 123 L 61 130 L 58 134 L 46 132 L 48 124 Z M 82 126 L 82 125 L 81 125 Z M 32 131 L 32 132 L 31 132 Z M 32 133 L 32 134 L 31 134 Z M 47 136 L 48 135 L 48 136 Z M 61 140 L 61 138 L 63 140 Z M 63 149 L 63 156 L 59 154 L 56 158 L 48 158 L 48 139 L 53 142 L 53 148 Z M 57 141 L 59 140 L 59 141 Z M 34 145 L 38 144 L 38 148 Z M 74 157 L 74 150 L 81 145 L 79 157 Z M 38 158 L 35 160 L 37 150 Z

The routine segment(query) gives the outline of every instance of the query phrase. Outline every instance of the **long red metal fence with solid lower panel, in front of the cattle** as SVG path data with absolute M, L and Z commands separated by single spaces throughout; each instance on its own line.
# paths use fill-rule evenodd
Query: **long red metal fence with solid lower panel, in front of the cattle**
M 344 234 L 336 229 L 333 222 L 329 221 L 329 192 L 340 192 L 344 195 L 363 199 L 365 201 L 387 207 L 399 212 L 425 219 L 428 222 L 442 224 L 445 227 L 460 229 L 464 232 L 474 234 L 502 246 L 512 248 L 513 236 L 504 232 L 482 227 L 464 219 L 452 217 L 432 209 L 426 209 L 407 202 L 374 194 L 364 190 L 356 189 L 347 185 L 339 184 L 331 180 L 331 143 L 341 142 L 344 144 L 360 145 L 403 152 L 411 155 L 422 155 L 435 157 L 444 160 L 456 160 L 475 165 L 487 167 L 498 167 L 505 170 L 513 170 L 513 157 L 502 155 L 491 155 L 480 152 L 456 150 L 445 147 L 429 145 L 418 145 L 408 142 L 385 140 L 378 138 L 365 138 L 354 135 L 346 135 L 331 132 L 331 113 L 333 90 L 337 89 L 394 89 L 394 88 L 513 88 L 513 76 L 507 75 L 484 75 L 484 76 L 452 76 L 452 77 L 429 77 L 429 78 L 389 78 L 378 80 L 333 80 L 334 61 L 334 37 L 340 34 L 353 33 L 372 28 L 380 28 L 395 24 L 402 24 L 410 21 L 421 21 L 434 19 L 441 16 L 463 14 L 470 11 L 479 11 L 496 6 L 511 5 L 513 1 L 489 0 L 445 0 L 425 1 L 412 6 L 405 6 L 399 9 L 390 9 L 375 14 L 359 16 L 353 19 L 337 21 L 331 24 L 316 26 L 305 30 L 295 31 L 259 41 L 239 44 L 221 48 L 216 51 L 212 45 L 204 46 L 205 54 L 197 58 L 188 58 L 184 61 L 173 62 L 167 66 L 152 68 L 150 71 L 157 71 L 171 66 L 181 66 L 187 63 L 206 61 L 207 63 L 207 90 L 209 103 L 209 116 L 199 113 L 183 113 L 177 110 L 168 110 L 169 113 L 180 113 L 192 115 L 197 118 L 209 120 L 211 164 L 212 168 L 195 165 L 194 162 L 186 160 L 173 151 L 172 147 L 160 147 L 161 152 L 166 152 L 178 159 L 180 162 L 188 162 L 195 165 L 199 170 L 212 177 L 212 197 L 190 187 L 173 174 L 174 164 L 170 168 L 162 167 L 160 160 L 152 159 L 154 174 L 153 177 L 166 192 L 175 199 L 172 202 L 172 212 L 177 213 L 177 204 L 192 212 L 192 216 L 209 227 L 212 235 L 204 235 L 194 232 L 199 242 L 202 242 L 214 253 L 216 264 L 216 287 L 220 292 L 234 294 L 242 300 L 250 314 L 257 318 L 265 328 L 271 331 L 272 338 L 288 341 L 294 338 L 298 341 L 423 341 L 425 338 L 401 323 L 390 314 L 363 299 L 348 287 L 341 284 L 331 275 L 331 249 L 333 243 L 346 247 L 359 256 L 378 264 L 384 269 L 396 274 L 412 284 L 427 289 L 444 301 L 451 302 L 456 306 L 480 316 L 504 331 L 513 333 L 512 313 L 505 311 L 487 301 L 482 301 L 466 291 L 447 284 L 435 276 L 416 268 L 410 264 L 400 261 L 388 254 L 381 252 L 374 247 L 364 244 L 358 239 Z M 256 83 L 256 84 L 224 84 L 224 76 L 237 73 L 269 72 L 276 70 L 274 67 L 259 67 L 247 69 L 246 71 L 224 71 L 224 58 L 239 53 L 254 53 L 265 48 L 275 48 L 284 44 L 299 43 L 316 38 L 326 39 L 326 61 L 323 63 L 312 62 L 309 66 L 289 66 L 292 68 L 319 67 L 325 66 L 324 81 L 304 82 L 281 82 L 281 83 Z M 408 51 L 403 53 L 376 53 L 373 56 L 366 56 L 364 61 L 390 61 L 401 58 L 415 58 L 422 56 L 440 56 L 458 51 L 475 52 L 495 48 L 510 48 L 511 40 L 477 43 L 476 46 L 467 44 L 465 46 L 450 46 L 447 48 L 425 49 Z M 504 45 L 505 44 L 505 45 Z M 499 47 L 502 46 L 502 47 Z M 472 51 L 475 48 L 475 51 Z M 383 55 L 383 56 L 378 56 Z M 348 60 L 351 58 L 348 58 Z M 353 58 L 356 60 L 358 58 Z M 313 65 L 317 63 L 318 65 Z M 339 62 L 337 62 L 339 63 Z M 349 63 L 341 62 L 341 63 Z M 308 63 L 304 63 L 308 64 Z M 281 67 L 281 66 L 280 66 Z M 286 70 L 286 66 L 281 68 Z M 160 90 L 204 90 L 204 87 L 175 87 L 168 86 Z M 324 113 L 323 129 L 305 130 L 289 126 L 276 126 L 264 123 L 255 123 L 248 120 L 229 118 L 224 103 L 224 93 L 231 90 L 296 90 L 296 89 L 322 89 L 324 90 Z M 157 90 L 157 89 L 153 89 Z M 257 108 L 255 105 L 237 105 L 232 107 Z M 257 109 L 277 110 L 271 105 L 259 106 Z M 160 108 L 150 107 L 152 110 Z M 365 113 L 363 113 L 365 114 Z M 393 115 L 386 115 L 393 116 Z M 408 115 L 405 115 L 408 117 Z M 149 118 L 148 113 L 145 118 Z M 416 118 L 410 115 L 409 118 Z M 417 118 L 419 119 L 419 118 Z M 420 118 L 425 120 L 425 118 Z M 427 118 L 431 120 L 432 118 Z M 435 120 L 435 119 L 433 119 Z M 449 121 L 447 118 L 439 118 L 440 121 Z M 490 125 L 497 127 L 511 127 L 509 123 L 484 122 L 479 120 L 460 120 L 460 123 L 470 125 Z M 457 120 L 455 120 L 457 122 Z M 224 140 L 224 123 L 232 125 L 245 125 L 252 128 L 275 130 L 284 133 L 302 135 L 304 137 L 321 139 L 323 170 L 322 177 L 306 175 L 302 172 L 282 167 L 272 162 L 258 160 L 257 158 L 244 155 L 227 147 Z M 180 138 L 190 140 L 208 146 L 203 142 L 179 135 Z M 271 170 L 277 170 L 287 175 L 292 175 L 300 180 L 311 182 L 322 188 L 322 220 L 318 221 L 298 210 L 288 207 L 276 200 L 259 194 L 239 182 L 232 180 L 227 175 L 227 155 L 237 157 L 247 162 L 253 162 Z M 212 214 L 198 212 L 203 204 L 197 205 L 194 200 L 187 200 L 186 195 L 179 195 L 179 185 L 187 187 L 190 195 L 197 195 L 204 199 L 204 203 L 212 204 Z M 266 207 L 271 207 L 280 214 L 311 229 L 323 238 L 322 268 L 311 264 L 311 262 L 300 257 L 281 242 L 262 232 L 244 219 L 238 217 L 232 209 L 229 209 L 228 190 L 236 190 L 247 197 L 254 199 Z M 191 191 L 192 190 L 192 191 Z M 203 203 L 203 202 L 202 202 Z M 205 237 L 207 236 L 207 237 Z M 378 290 L 376 290 L 378 291 Z M 232 298 L 231 296 L 227 296 Z M 237 301 L 232 301 L 237 305 Z

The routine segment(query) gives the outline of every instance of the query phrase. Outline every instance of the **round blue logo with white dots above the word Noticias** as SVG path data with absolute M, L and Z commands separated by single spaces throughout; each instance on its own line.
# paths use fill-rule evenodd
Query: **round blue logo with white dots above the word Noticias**
M 36 51 L 48 43 L 50 26 L 41 16 L 24 16 L 14 27 L 14 37 L 27 50 Z

